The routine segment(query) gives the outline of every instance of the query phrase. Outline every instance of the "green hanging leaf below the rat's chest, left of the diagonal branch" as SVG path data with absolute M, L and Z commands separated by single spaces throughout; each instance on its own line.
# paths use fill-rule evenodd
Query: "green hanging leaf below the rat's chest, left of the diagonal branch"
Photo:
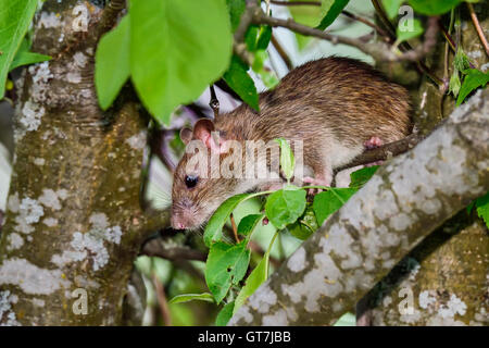
M 226 296 L 230 286 L 237 285 L 248 270 L 250 250 L 247 241 L 228 245 L 216 241 L 209 250 L 205 263 L 205 282 L 214 299 L 220 303 Z

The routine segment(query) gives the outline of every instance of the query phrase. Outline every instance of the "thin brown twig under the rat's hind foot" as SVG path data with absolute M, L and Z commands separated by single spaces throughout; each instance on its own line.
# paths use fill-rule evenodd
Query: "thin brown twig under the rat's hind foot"
M 366 150 L 362 154 L 355 157 L 350 163 L 339 167 L 336 172 L 340 172 L 356 165 L 368 164 L 376 161 L 385 161 L 391 157 L 404 153 L 415 147 L 424 137 L 419 134 L 412 134 L 404 139 L 386 144 L 381 147 Z

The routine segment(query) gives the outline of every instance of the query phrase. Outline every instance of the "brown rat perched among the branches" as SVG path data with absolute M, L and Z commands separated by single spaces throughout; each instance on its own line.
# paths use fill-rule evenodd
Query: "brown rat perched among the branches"
M 220 165 L 211 164 L 211 156 L 220 163 L 227 159 L 228 163 L 235 161 L 228 165 L 231 172 L 243 173 L 247 140 L 302 140 L 304 172 L 313 172 L 314 178 L 296 179 L 328 186 L 333 170 L 362 153 L 365 146 L 379 145 L 379 139 L 399 140 L 410 129 L 405 88 L 356 60 L 331 57 L 309 62 L 292 70 L 275 89 L 260 95 L 260 113 L 243 103 L 214 122 L 200 120 L 193 130 L 181 130 L 184 142 L 201 141 L 202 152 L 184 154 L 175 170 L 172 226 L 197 228 L 227 198 L 280 181 L 277 176 L 243 178 L 244 174 L 223 177 Z M 218 138 L 212 132 L 217 132 Z M 236 141 L 242 145 L 242 152 L 229 146 Z M 203 156 L 204 165 L 196 164 L 195 152 Z M 277 156 L 266 158 L 268 165 L 277 161 Z

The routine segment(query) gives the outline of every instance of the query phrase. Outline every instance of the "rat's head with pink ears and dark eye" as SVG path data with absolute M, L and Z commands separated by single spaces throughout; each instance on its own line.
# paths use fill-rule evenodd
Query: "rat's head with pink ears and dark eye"
M 229 156 L 228 141 L 215 132 L 211 120 L 199 120 L 193 130 L 181 129 L 180 138 L 186 153 L 173 177 L 171 222 L 176 229 L 195 229 L 235 195 L 238 181 L 221 177 L 218 163 Z

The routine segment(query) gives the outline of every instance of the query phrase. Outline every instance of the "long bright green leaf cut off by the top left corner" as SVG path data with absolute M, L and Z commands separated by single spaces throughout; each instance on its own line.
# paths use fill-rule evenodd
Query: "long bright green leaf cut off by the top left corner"
M 36 12 L 37 0 L 0 0 L 0 99 L 7 74 Z

